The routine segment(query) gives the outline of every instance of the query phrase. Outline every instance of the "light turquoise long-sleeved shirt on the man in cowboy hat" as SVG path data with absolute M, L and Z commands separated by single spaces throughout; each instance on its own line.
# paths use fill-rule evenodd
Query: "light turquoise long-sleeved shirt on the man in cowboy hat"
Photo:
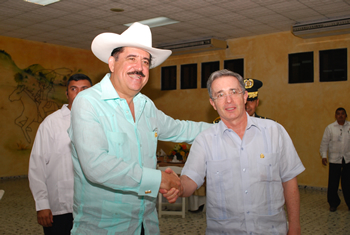
M 135 119 L 110 74 L 75 98 L 69 135 L 73 146 L 72 234 L 159 234 L 157 141 L 192 143 L 211 125 L 174 120 L 146 96 L 134 97 Z

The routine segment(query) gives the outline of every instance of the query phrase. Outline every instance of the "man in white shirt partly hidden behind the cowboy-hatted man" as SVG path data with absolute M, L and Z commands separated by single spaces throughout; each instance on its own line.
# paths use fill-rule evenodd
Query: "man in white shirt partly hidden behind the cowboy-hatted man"
M 67 82 L 68 104 L 47 116 L 35 136 L 28 178 L 38 223 L 44 227 L 45 235 L 70 234 L 72 229 L 74 176 L 67 129 L 74 98 L 91 86 L 88 76 L 72 75 Z

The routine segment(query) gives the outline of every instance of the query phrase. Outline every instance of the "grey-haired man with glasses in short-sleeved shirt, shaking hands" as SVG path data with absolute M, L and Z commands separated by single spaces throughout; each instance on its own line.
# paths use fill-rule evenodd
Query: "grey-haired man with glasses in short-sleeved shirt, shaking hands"
M 246 113 L 248 92 L 239 74 L 216 71 L 207 87 L 221 121 L 193 142 L 178 194 L 163 195 L 169 202 L 188 197 L 206 177 L 207 234 L 300 234 L 296 177 L 305 168 L 288 133 Z

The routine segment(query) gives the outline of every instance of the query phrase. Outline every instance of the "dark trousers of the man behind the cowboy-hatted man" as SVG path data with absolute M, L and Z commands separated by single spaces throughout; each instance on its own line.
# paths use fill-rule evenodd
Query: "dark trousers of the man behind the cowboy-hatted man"
M 73 214 L 54 215 L 52 227 L 43 227 L 45 235 L 70 235 L 73 227 Z

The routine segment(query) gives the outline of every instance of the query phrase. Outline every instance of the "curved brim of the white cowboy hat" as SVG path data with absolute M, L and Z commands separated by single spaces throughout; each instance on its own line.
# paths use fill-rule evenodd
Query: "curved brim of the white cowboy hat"
M 170 50 L 157 49 L 133 42 L 124 38 L 123 35 L 115 33 L 101 33 L 94 38 L 91 44 L 94 55 L 107 64 L 112 51 L 118 47 L 136 47 L 150 53 L 152 55 L 150 69 L 163 63 L 172 53 Z

